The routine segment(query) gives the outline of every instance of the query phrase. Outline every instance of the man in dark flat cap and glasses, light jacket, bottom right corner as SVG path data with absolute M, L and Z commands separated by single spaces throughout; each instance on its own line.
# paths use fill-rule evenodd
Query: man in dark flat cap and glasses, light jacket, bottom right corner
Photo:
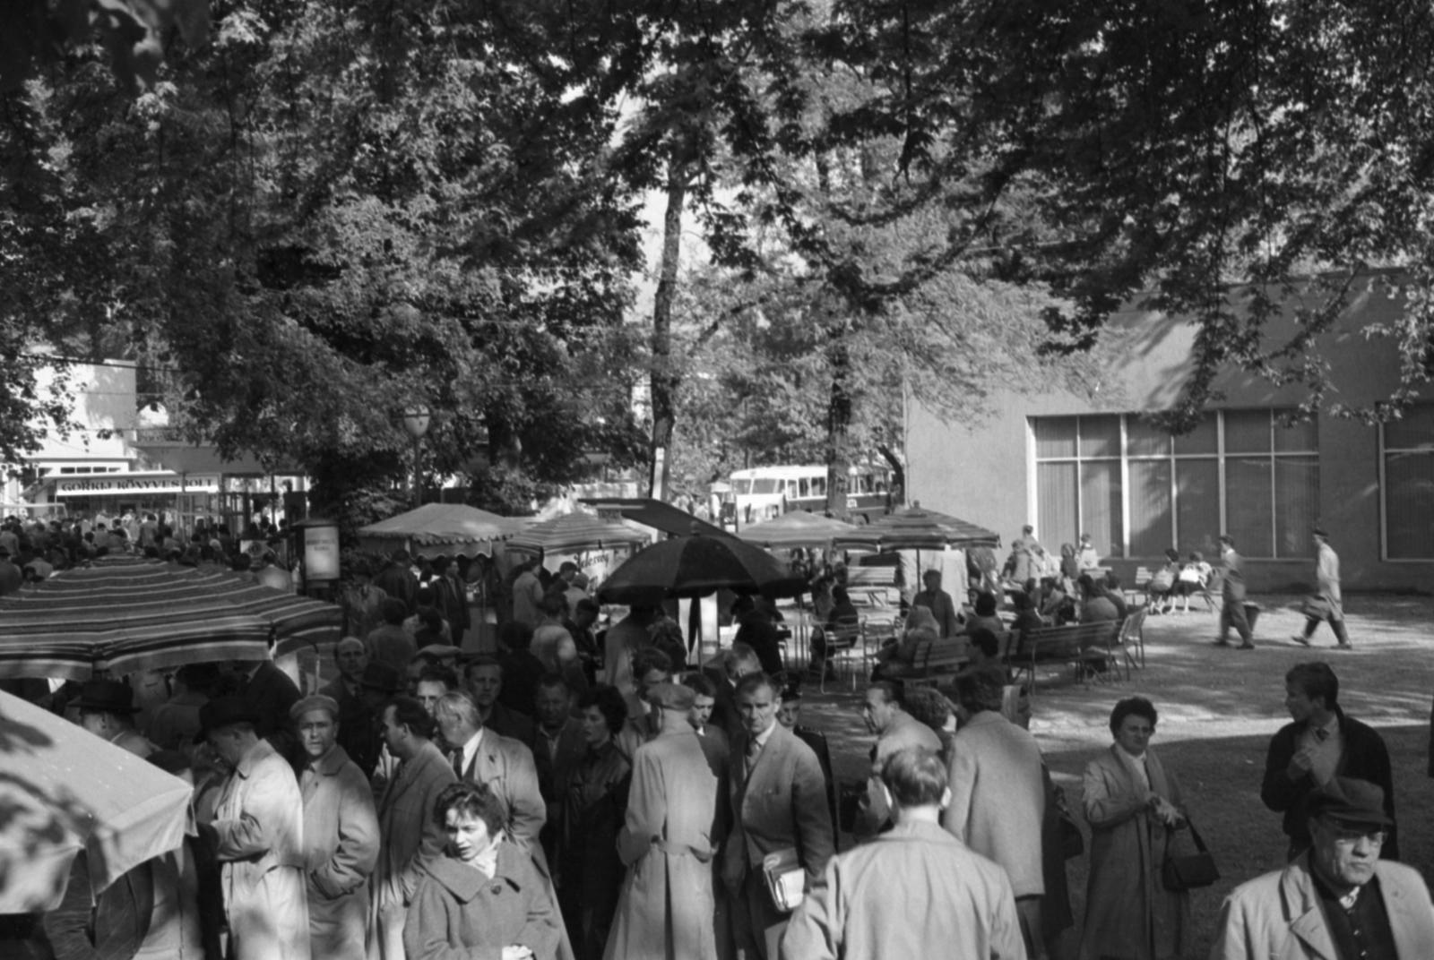
M 1210 960 L 1427 960 L 1434 904 L 1418 871 L 1380 858 L 1384 791 L 1335 777 L 1309 798 L 1314 847 L 1225 900 Z

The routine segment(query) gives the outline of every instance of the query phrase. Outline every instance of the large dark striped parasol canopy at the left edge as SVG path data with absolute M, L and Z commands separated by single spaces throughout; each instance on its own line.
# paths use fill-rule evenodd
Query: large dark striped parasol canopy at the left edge
M 340 639 L 343 610 L 225 570 L 130 557 L 0 597 L 0 678 L 89 679 L 199 661 L 260 661 Z

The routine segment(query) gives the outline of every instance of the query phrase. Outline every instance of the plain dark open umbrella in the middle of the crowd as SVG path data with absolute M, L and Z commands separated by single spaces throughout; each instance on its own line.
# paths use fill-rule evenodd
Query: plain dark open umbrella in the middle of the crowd
M 651 606 L 723 587 L 776 599 L 802 593 L 806 580 L 766 550 L 734 537 L 674 537 L 628 557 L 602 585 L 598 599 Z

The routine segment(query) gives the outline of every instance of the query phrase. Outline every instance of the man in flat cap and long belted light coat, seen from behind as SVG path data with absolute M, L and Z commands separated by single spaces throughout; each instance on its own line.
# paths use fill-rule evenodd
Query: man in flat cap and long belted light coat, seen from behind
M 717 775 L 687 721 L 695 699 L 677 683 L 647 691 L 658 731 L 632 755 L 632 789 L 618 834 L 628 873 L 608 957 L 716 956 Z

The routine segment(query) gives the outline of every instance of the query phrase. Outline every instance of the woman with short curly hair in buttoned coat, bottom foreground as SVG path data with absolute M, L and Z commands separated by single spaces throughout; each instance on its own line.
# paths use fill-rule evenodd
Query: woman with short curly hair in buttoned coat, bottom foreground
M 503 838 L 503 802 L 486 787 L 452 784 L 433 815 L 447 830 L 447 855 L 413 894 L 403 928 L 409 960 L 554 960 L 558 910 L 528 853 Z

